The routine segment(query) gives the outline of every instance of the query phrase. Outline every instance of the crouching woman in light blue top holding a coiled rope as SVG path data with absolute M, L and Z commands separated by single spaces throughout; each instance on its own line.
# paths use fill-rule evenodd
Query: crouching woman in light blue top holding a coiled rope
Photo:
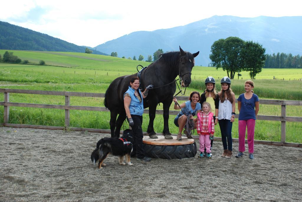
M 173 98 L 174 101 L 174 109 L 182 109 L 182 111 L 185 112 L 182 113 L 182 111 L 177 114 L 177 116 L 174 119 L 174 124 L 177 126 L 178 134 L 176 139 L 182 140 L 182 130 L 185 127 L 185 123 L 187 122 L 187 116 L 191 116 L 191 119 L 194 119 L 193 117 L 197 115 L 197 113 L 201 112 L 201 104 L 198 102 L 200 100 L 200 94 L 197 91 L 193 91 L 190 95 L 189 101 L 186 101 L 179 106 L 177 105 L 177 99 Z M 194 120 L 194 128 L 196 128 L 196 120 Z M 184 133 L 188 138 L 193 138 L 191 134 L 188 134 L 187 130 L 184 130 Z

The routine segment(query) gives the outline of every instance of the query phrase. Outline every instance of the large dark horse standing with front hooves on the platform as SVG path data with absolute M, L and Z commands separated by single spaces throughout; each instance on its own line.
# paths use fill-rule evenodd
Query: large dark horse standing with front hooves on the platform
M 169 131 L 168 120 L 169 107 L 176 91 L 176 84 L 173 81 L 179 75 L 182 80 L 181 85 L 183 87 L 187 87 L 191 83 L 191 71 L 194 67 L 194 57 L 198 55 L 199 51 L 191 54 L 183 51 L 180 47 L 179 50 L 179 52 L 162 54 L 158 60 L 149 65 L 147 68 L 144 68 L 141 72 L 140 82 L 143 91 L 146 86 L 150 84 L 154 85 L 154 89 L 150 89 L 148 96 L 143 99 L 144 108 L 149 107 L 150 120 L 147 134 L 151 138 L 157 138 L 153 128 L 153 122 L 155 118 L 156 106 L 160 102 L 163 104 L 164 117 L 164 129 L 162 134 L 167 139 L 172 137 Z M 110 110 L 111 137 L 120 136 L 120 128 L 126 119 L 123 96 L 128 89 L 132 76 L 137 76 L 137 73 L 114 79 L 105 93 L 104 105 Z M 116 119 L 117 114 L 119 114 L 119 116 Z

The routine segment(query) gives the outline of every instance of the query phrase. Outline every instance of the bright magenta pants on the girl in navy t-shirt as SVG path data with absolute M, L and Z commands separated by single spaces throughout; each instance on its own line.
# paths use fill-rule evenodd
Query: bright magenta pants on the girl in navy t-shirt
M 238 121 L 239 152 L 245 151 L 246 127 L 247 127 L 247 144 L 249 146 L 249 153 L 254 153 L 255 119 Z

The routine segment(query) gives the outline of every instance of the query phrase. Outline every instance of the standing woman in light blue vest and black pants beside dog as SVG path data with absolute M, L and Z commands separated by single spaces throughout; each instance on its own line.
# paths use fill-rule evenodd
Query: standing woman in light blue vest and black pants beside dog
M 124 107 L 129 121 L 129 126 L 134 133 L 134 145 L 133 153 L 136 153 L 137 160 L 150 161 L 151 158 L 145 155 L 143 149 L 143 98 L 148 95 L 149 89 L 153 88 L 153 85 L 148 85 L 143 93 L 138 89 L 140 87 L 140 79 L 137 76 L 133 76 L 130 80 L 130 86 L 124 94 Z

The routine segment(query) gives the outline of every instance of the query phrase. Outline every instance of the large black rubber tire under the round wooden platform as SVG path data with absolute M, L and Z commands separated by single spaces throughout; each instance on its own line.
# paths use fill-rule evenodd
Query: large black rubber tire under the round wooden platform
M 197 153 L 196 143 L 185 145 L 149 145 L 143 143 L 146 156 L 155 159 L 183 159 L 194 157 Z

